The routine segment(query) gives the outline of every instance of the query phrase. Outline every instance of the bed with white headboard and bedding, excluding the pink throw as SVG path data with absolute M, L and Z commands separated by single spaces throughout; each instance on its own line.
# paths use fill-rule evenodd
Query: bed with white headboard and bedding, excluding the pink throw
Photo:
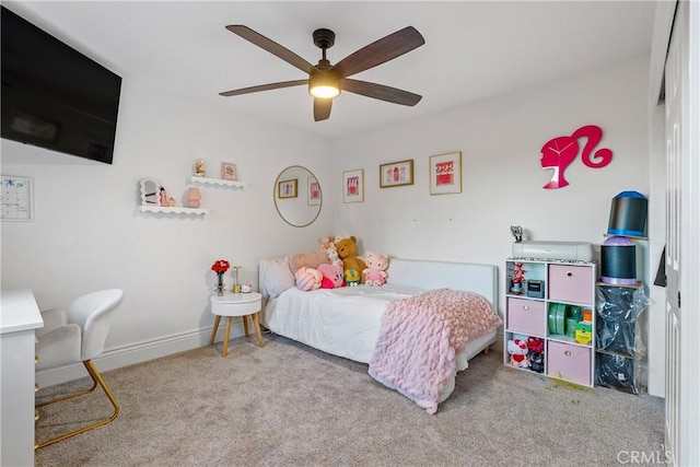
M 343 287 L 302 291 L 294 287 L 287 257 L 261 259 L 259 290 L 265 299 L 262 324 L 270 331 L 324 352 L 372 365 L 375 347 L 383 334 L 383 316 L 402 301 L 415 300 L 434 290 L 465 291 L 480 295 L 498 314 L 498 269 L 492 265 L 392 258 L 387 283 L 383 287 Z M 386 320 L 386 319 L 385 319 Z M 386 326 L 386 323 L 385 323 Z M 413 399 L 429 413 L 454 390 L 455 374 L 468 361 L 495 342 L 498 326 L 474 337 L 454 355 L 454 371 L 434 400 L 421 404 L 399 387 L 375 380 Z M 373 362 L 374 358 L 374 362 Z M 372 375 L 372 366 L 370 367 Z

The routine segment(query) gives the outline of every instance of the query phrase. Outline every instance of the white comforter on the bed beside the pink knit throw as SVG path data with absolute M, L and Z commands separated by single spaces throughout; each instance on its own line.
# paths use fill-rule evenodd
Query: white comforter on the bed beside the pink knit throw
M 291 288 L 268 302 L 264 324 L 275 334 L 324 352 L 370 363 L 386 305 L 420 292 L 388 284 L 312 292 Z

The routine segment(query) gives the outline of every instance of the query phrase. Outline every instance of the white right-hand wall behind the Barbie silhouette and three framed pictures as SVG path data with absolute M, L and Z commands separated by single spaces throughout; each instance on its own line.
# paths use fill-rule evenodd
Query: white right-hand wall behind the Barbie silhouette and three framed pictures
M 511 225 L 524 226 L 529 240 L 599 244 L 611 198 L 649 195 L 648 79 L 644 56 L 336 141 L 335 172 L 364 168 L 365 201 L 336 201 L 335 229 L 357 235 L 364 250 L 500 268 L 511 254 Z M 544 189 L 551 174 L 540 166 L 540 148 L 583 125 L 603 129 L 597 148 L 611 149 L 612 162 L 594 170 L 578 159 L 565 172 L 569 186 Z M 454 150 L 462 151 L 463 192 L 431 196 L 429 157 Z M 415 184 L 380 188 L 378 165 L 407 159 Z M 334 182 L 340 189 L 339 175 Z

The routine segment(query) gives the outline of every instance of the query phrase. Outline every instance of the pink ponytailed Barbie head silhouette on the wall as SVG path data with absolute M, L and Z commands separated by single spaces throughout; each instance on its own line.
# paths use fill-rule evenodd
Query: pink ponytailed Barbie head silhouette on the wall
M 605 167 L 612 161 L 612 151 L 607 148 L 593 150 L 603 138 L 603 130 L 595 125 L 586 125 L 579 128 L 570 137 L 557 137 L 542 145 L 542 156 L 539 160 L 542 168 L 553 168 L 551 180 L 542 188 L 563 188 L 569 185 L 564 178 L 564 171 L 579 155 L 579 138 L 585 137 L 586 144 L 583 147 L 581 160 L 584 165 L 592 168 Z

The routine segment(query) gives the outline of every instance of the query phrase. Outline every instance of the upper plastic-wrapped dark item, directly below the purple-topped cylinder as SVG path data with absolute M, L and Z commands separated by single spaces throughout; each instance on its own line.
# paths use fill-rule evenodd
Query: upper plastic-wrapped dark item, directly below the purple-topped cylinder
M 646 288 L 598 285 L 596 288 L 596 349 L 640 359 L 646 348 L 640 335 L 639 317 L 649 306 Z

